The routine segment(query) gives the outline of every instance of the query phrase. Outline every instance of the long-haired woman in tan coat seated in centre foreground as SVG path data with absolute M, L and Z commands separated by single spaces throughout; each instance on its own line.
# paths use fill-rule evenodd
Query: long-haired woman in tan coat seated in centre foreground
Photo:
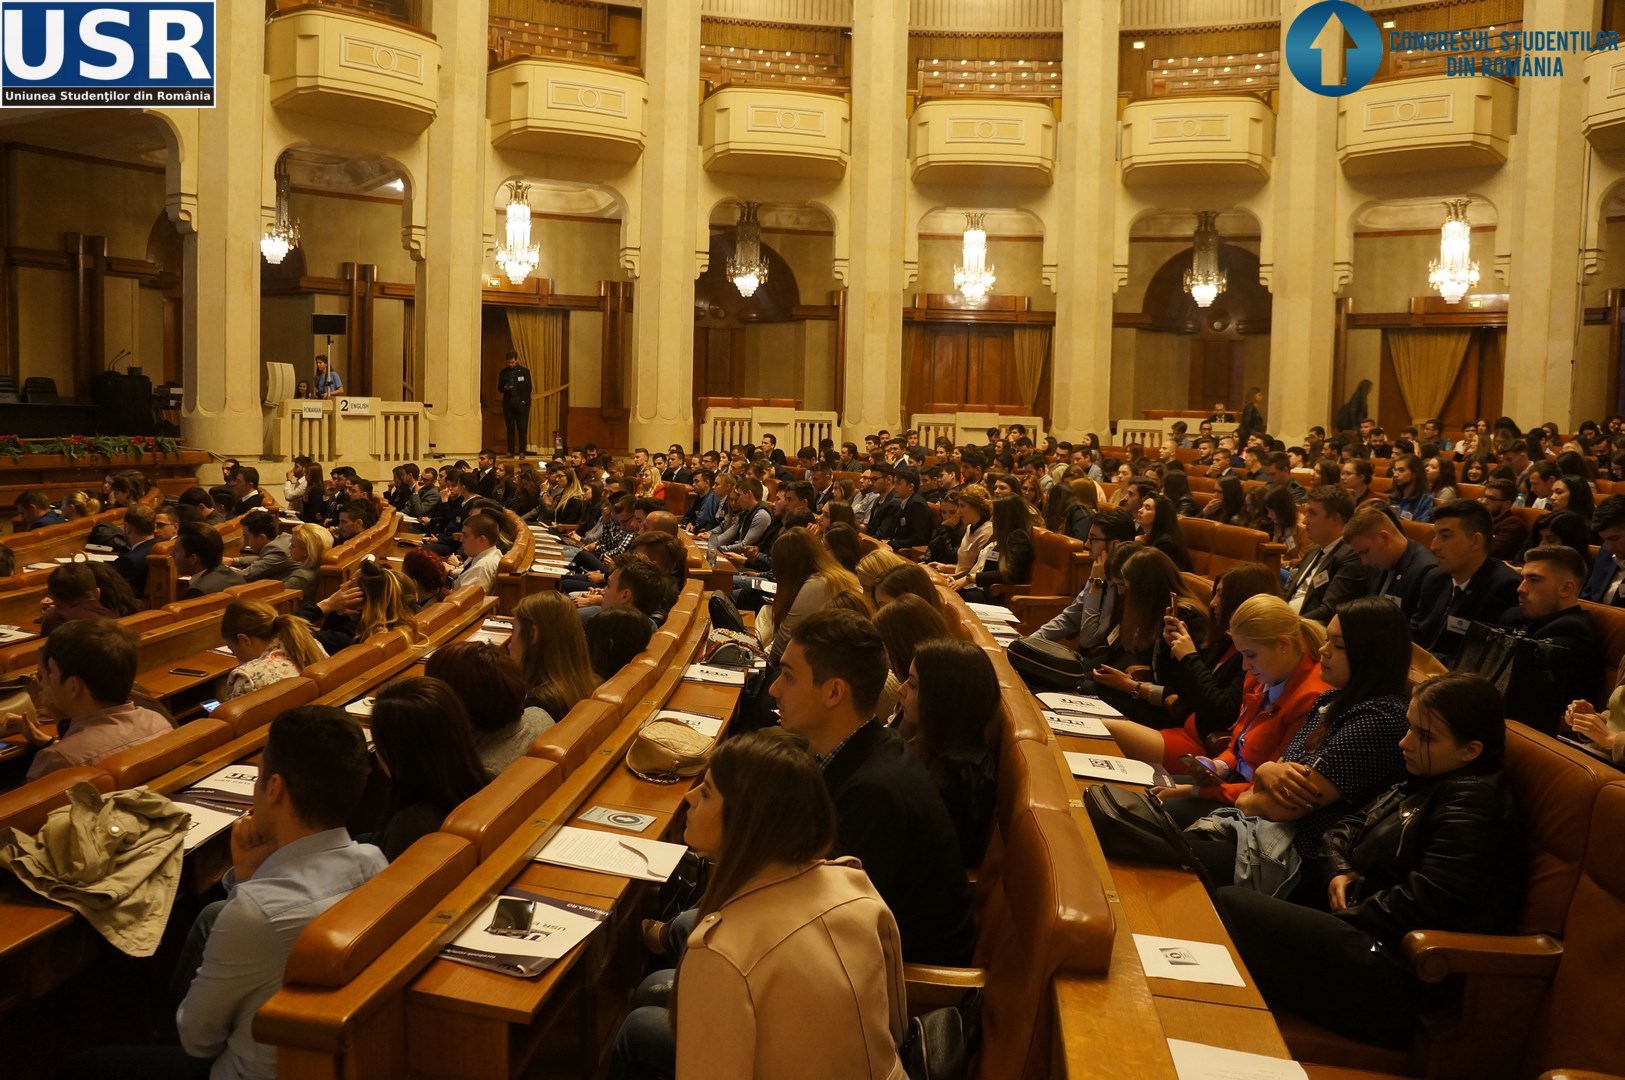
M 670 1000 L 678 1080 L 904 1080 L 897 922 L 855 859 L 826 861 L 835 806 L 812 755 L 780 734 L 717 749 L 684 840 L 715 861 Z M 647 1043 L 611 1077 L 671 1075 Z

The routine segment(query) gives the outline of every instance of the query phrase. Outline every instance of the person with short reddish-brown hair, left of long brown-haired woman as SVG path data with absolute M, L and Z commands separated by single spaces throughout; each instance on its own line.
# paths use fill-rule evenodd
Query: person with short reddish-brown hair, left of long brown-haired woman
M 525 703 L 525 677 L 514 658 L 491 642 L 452 642 L 434 650 L 422 674 L 452 687 L 468 710 L 474 749 L 489 776 L 496 776 L 525 752 L 554 716 Z

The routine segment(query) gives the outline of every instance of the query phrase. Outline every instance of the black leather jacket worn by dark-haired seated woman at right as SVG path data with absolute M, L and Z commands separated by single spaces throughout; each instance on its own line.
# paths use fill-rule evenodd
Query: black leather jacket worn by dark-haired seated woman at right
M 1502 773 L 1406 780 L 1321 843 L 1328 880 L 1362 875 L 1339 914 L 1384 945 L 1424 929 L 1506 932 L 1523 898 L 1523 836 Z

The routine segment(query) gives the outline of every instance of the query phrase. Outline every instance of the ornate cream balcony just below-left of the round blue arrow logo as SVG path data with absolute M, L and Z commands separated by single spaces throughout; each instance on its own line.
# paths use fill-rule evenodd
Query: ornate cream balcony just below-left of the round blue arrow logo
M 1120 123 L 1124 184 L 1269 179 L 1276 114 L 1250 94 L 1136 101 Z

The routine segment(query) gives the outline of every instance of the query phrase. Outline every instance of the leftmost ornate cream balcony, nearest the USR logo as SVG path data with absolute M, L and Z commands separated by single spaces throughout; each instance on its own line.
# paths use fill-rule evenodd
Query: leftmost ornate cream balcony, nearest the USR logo
M 440 97 L 440 45 L 398 23 L 294 8 L 265 28 L 265 73 L 278 109 L 421 132 Z

